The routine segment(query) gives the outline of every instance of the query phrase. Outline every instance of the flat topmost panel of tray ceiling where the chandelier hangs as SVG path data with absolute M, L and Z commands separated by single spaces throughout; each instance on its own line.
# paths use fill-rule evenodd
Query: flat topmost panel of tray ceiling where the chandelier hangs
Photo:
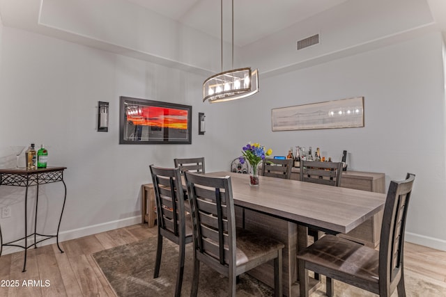
M 220 0 L 125 1 L 221 38 Z M 223 34 L 224 39 L 230 41 L 232 1 L 222 1 Z M 234 0 L 234 44 L 243 47 L 345 1 L 347 0 Z

